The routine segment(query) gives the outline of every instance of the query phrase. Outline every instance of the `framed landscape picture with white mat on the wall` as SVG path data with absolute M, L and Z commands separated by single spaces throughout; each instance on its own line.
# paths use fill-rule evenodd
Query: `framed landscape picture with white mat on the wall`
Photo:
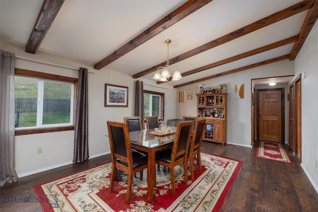
M 128 87 L 105 83 L 105 107 L 128 107 Z

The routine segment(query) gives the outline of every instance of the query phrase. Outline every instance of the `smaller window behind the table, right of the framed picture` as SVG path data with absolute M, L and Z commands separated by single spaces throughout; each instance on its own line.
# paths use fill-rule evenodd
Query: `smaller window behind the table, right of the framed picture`
M 164 93 L 144 90 L 144 110 L 145 117 L 161 117 L 164 114 Z

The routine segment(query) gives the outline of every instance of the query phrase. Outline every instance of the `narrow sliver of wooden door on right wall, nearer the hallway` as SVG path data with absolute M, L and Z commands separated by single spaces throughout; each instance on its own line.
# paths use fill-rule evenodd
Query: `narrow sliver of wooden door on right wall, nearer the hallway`
M 296 151 L 296 138 L 295 138 L 295 93 L 294 82 L 289 85 L 289 143 L 293 152 Z

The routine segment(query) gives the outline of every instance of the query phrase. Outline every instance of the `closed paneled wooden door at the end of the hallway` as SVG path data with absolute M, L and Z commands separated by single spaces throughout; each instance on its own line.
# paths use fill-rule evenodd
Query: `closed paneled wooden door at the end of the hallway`
M 282 90 L 263 89 L 258 94 L 258 138 L 282 142 Z

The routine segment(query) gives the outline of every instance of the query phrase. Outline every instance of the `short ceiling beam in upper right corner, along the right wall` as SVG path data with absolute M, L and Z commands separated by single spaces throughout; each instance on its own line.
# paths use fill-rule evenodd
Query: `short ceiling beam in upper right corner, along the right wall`
M 295 60 L 300 49 L 302 48 L 303 44 L 306 41 L 307 36 L 309 35 L 310 31 L 315 25 L 317 18 L 318 18 L 318 0 L 315 0 L 314 6 L 308 10 L 308 13 L 304 20 L 302 28 L 300 29 L 300 32 L 299 32 L 299 39 L 294 44 L 294 47 L 290 53 L 289 60 L 291 61 Z

